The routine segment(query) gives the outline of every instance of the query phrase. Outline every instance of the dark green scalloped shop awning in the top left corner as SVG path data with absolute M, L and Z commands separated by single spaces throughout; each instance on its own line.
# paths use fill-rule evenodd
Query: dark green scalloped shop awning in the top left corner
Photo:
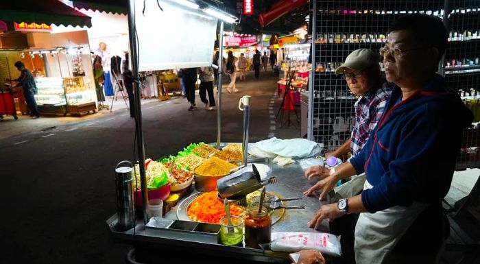
M 45 23 L 91 27 L 90 16 L 78 12 L 58 0 L 2 1 L 0 20 L 16 23 Z

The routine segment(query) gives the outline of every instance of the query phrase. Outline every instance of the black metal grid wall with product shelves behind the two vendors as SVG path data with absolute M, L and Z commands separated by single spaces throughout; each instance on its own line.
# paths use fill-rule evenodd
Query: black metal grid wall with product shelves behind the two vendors
M 447 8 L 447 10 L 444 10 Z M 346 82 L 333 71 L 351 51 L 383 47 L 388 26 L 398 17 L 420 12 L 446 21 L 450 42 L 440 72 L 480 121 L 480 1 L 317 1 L 315 75 L 313 79 L 313 139 L 331 152 L 350 137 L 355 115 Z M 381 67 L 383 65 L 381 64 Z M 383 69 L 382 69 L 383 70 Z M 457 169 L 479 167 L 479 132 L 464 132 Z M 475 153 L 475 155 L 474 155 Z

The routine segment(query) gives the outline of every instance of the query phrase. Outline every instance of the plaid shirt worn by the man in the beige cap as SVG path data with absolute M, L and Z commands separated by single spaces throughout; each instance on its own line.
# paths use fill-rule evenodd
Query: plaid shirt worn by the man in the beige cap
M 363 144 L 368 141 L 368 136 L 375 128 L 376 123 L 379 123 L 391 94 L 392 88 L 383 84 L 374 91 L 367 91 L 355 102 L 355 121 L 353 122 L 352 143 L 350 144 L 352 156 L 357 155 Z

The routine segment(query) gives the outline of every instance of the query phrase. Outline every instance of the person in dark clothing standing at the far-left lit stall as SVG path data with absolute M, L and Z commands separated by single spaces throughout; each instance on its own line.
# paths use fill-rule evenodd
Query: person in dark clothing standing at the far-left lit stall
M 25 101 L 27 101 L 28 109 L 30 110 L 30 117 L 34 119 L 40 117 L 38 108 L 36 106 L 35 96 L 37 93 L 37 88 L 32 73 L 25 68 L 25 64 L 20 60 L 15 62 L 15 67 L 21 72 L 20 77 L 14 79 L 13 81 L 19 82 L 14 87 L 23 87 L 23 96 L 25 96 Z M 10 79 L 7 79 L 10 82 Z

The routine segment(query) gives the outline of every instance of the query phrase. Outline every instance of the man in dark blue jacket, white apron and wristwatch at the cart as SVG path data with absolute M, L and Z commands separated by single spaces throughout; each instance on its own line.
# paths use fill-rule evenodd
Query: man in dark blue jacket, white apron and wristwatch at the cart
M 338 180 L 365 172 L 363 192 L 321 206 L 308 224 L 360 213 L 357 264 L 436 263 L 447 229 L 441 201 L 472 112 L 435 73 L 448 38 L 440 19 L 409 14 L 388 33 L 380 54 L 387 81 L 396 84 L 392 97 L 361 152 L 322 180 L 320 198 Z

